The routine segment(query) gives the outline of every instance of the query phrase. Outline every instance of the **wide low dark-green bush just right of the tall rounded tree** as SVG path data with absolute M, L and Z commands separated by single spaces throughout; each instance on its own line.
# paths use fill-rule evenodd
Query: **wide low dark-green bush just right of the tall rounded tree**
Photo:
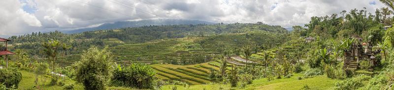
M 156 73 L 152 67 L 143 63 L 133 63 L 129 67 L 113 72 L 112 84 L 137 89 L 155 89 Z

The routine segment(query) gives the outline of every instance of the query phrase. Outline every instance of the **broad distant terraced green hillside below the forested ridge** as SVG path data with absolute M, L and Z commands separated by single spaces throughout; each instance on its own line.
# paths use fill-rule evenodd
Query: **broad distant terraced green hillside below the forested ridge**
M 163 62 L 165 58 L 180 60 L 181 55 L 191 59 L 193 55 L 211 56 L 224 50 L 240 49 L 248 42 L 266 44 L 276 36 L 264 33 L 218 35 L 210 37 L 189 37 L 180 39 L 159 40 L 151 43 L 119 45 L 110 51 L 115 61 L 121 64 L 130 62 L 151 63 L 153 60 Z M 279 41 L 271 41 L 278 43 Z M 270 44 L 271 44 L 270 43 Z M 218 48 L 221 48 L 218 49 Z

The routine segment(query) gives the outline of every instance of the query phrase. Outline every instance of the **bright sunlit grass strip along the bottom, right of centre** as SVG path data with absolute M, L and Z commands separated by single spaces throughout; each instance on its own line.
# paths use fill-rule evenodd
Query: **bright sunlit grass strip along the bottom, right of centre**
M 195 85 L 190 88 L 183 86 L 177 86 L 178 90 L 300 90 L 303 86 L 307 85 L 312 90 L 328 90 L 335 87 L 335 82 L 338 80 L 329 79 L 326 75 L 316 76 L 314 78 L 306 78 L 298 80 L 297 77 L 301 77 L 301 74 L 295 74 L 291 78 L 275 79 L 268 81 L 266 78 L 254 80 L 252 84 L 247 85 L 245 88 L 230 88 L 230 85 L 214 84 L 214 85 Z M 164 86 L 163 90 L 171 90 L 169 86 Z

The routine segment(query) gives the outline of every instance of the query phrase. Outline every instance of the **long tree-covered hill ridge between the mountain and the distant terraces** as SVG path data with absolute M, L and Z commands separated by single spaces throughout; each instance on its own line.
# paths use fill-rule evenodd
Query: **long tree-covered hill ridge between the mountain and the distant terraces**
M 188 25 L 152 25 L 142 27 L 128 27 L 99 31 L 87 31 L 78 34 L 64 34 L 59 31 L 48 33 L 32 33 L 12 36 L 15 49 L 26 49 L 30 54 L 38 54 L 41 44 L 48 40 L 58 40 L 72 48 L 66 50 L 68 54 L 78 54 L 91 45 L 116 46 L 123 44 L 139 44 L 159 39 L 173 39 L 183 37 L 206 37 L 221 34 L 241 34 L 246 32 L 263 32 L 268 34 L 285 34 L 288 31 L 281 26 L 255 23 L 232 24 L 188 24 Z

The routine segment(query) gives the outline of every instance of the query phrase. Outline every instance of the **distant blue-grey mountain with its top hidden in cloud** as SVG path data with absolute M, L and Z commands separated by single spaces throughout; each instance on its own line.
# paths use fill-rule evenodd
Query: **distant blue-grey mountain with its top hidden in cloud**
M 71 31 L 64 31 L 65 33 L 81 33 L 85 31 L 95 31 L 102 29 L 116 29 L 124 27 L 140 27 L 149 25 L 173 25 L 173 24 L 215 24 L 214 22 L 205 22 L 199 20 L 175 20 L 175 19 L 158 19 L 158 20 L 141 20 L 141 21 L 122 21 L 114 23 L 104 23 L 97 27 L 82 28 Z

